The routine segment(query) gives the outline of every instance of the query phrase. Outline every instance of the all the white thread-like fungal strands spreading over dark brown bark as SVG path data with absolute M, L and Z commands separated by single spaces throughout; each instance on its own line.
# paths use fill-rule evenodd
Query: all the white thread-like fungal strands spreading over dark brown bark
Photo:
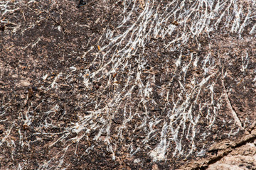
M 210 135 L 210 129 L 225 100 L 225 94 L 215 94 L 216 80 L 223 79 L 225 72 L 219 71 L 221 63 L 218 56 L 213 57 L 210 51 L 211 44 L 203 46 L 208 47 L 208 50 L 202 49 L 203 42 L 200 38 L 201 36 L 210 38 L 210 34 L 225 29 L 242 39 L 242 33 L 250 24 L 252 27 L 246 31 L 250 35 L 255 35 L 256 23 L 252 21 L 256 16 L 255 1 L 145 0 L 144 6 L 137 0 L 117 1 L 117 3 L 122 3 L 123 6 L 119 16 L 122 21 L 117 23 L 115 28 L 108 26 L 101 35 L 100 52 L 95 54 L 90 64 L 91 66 L 97 64 L 99 66 L 97 70 L 90 72 L 86 69 L 85 75 L 81 75 L 87 88 L 92 86 L 89 79 L 95 81 L 108 79 L 101 89 L 101 94 L 107 93 L 107 98 L 100 99 L 99 96 L 92 100 L 91 103 L 95 104 L 94 110 L 88 111 L 87 115 L 79 115 L 77 122 L 58 134 L 60 137 L 50 146 L 54 146 L 57 142 L 66 144 L 63 151 L 56 153 L 63 157 L 58 157 L 58 160 L 57 156 L 53 157 L 41 165 L 41 169 L 53 168 L 50 166 L 51 162 L 59 162 L 58 166 L 61 166 L 72 142 L 78 144 L 84 139 L 92 140 L 90 141 L 92 145 L 87 146 L 85 154 L 94 149 L 94 142 L 103 141 L 107 145 L 107 151 L 112 152 L 112 159 L 117 159 L 115 154 L 117 145 L 122 141 L 130 157 L 147 149 L 149 157 L 154 161 L 164 161 L 167 157 L 188 157 L 194 152 L 200 156 L 205 153 L 204 148 L 197 148 L 196 142 L 203 142 Z M 1 11 L 9 12 L 11 9 L 7 9 L 8 5 L 9 1 L 0 1 Z M 3 10 L 5 8 L 6 10 Z M 161 47 L 155 44 L 160 41 Z M 197 49 L 185 52 L 183 48 L 188 47 L 190 45 L 188 42 L 191 41 L 198 43 Z M 146 56 L 149 46 L 153 46 L 158 51 Z M 85 55 L 91 50 L 93 47 L 85 51 Z M 158 54 L 161 50 L 170 52 L 170 55 L 161 56 L 161 52 Z M 199 56 L 195 51 L 200 50 L 204 53 Z M 171 52 L 177 52 L 178 55 L 174 56 Z M 147 69 L 148 63 L 157 57 L 166 61 L 159 63 L 163 69 L 159 70 L 154 66 Z M 173 62 L 169 62 L 171 60 Z M 250 63 L 250 54 L 245 52 L 241 60 L 240 70 L 245 72 Z M 75 67 L 70 67 L 67 72 L 71 75 L 75 70 Z M 191 75 L 188 74 L 188 70 L 200 72 Z M 117 77 L 113 77 L 116 72 L 117 77 L 121 72 L 125 72 L 127 77 L 121 82 Z M 90 77 L 86 74 L 90 74 Z M 169 82 L 161 83 L 162 77 L 167 74 L 171 75 Z M 157 77 L 158 75 L 161 75 L 160 78 Z M 43 79 L 47 76 L 46 74 Z M 61 76 L 62 73 L 54 79 L 48 89 L 54 89 L 57 84 L 55 81 Z M 161 86 L 156 81 L 160 82 Z M 154 93 L 161 98 L 161 101 L 154 98 Z M 159 102 L 161 109 L 153 112 L 154 108 L 159 107 Z M 41 128 L 60 126 L 58 122 L 48 121 L 57 110 L 58 106 L 55 106 L 43 113 L 46 116 Z M 114 125 L 114 118 L 117 116 L 121 121 L 119 125 Z M 31 117 L 26 113 L 23 121 L 30 124 L 30 119 Z M 202 122 L 206 125 L 203 127 L 206 132 L 202 131 L 200 125 Z M 238 128 L 241 128 L 239 126 Z M 116 130 L 117 133 L 113 135 L 111 129 Z M 88 134 L 92 131 L 96 132 L 95 136 L 89 139 Z M 69 135 L 74 132 L 78 135 L 70 138 Z M 135 139 L 125 144 L 127 140 L 125 136 L 133 137 L 132 134 L 135 132 L 141 132 L 139 139 L 143 145 L 134 145 Z M 196 137 L 200 140 L 195 142 Z M 153 141 L 154 145 L 151 146 L 149 143 Z M 136 160 L 139 162 L 139 159 Z

